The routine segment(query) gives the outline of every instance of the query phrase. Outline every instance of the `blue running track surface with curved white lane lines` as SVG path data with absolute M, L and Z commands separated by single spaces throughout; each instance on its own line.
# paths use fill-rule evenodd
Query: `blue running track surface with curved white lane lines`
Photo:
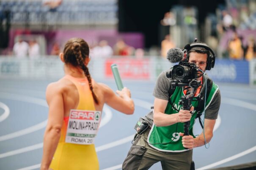
M 47 120 L 45 89 L 52 81 L 0 80 L 0 170 L 39 169 L 42 141 Z M 116 89 L 113 81 L 105 82 Z M 120 170 L 131 146 L 133 129 L 139 117 L 153 104 L 154 82 L 123 82 L 131 90 L 135 101 L 133 115 L 121 114 L 110 108 L 112 117 L 105 117 L 105 125 L 96 138 L 100 169 Z M 220 84 L 222 95 L 220 120 L 209 149 L 193 150 L 198 170 L 226 167 L 256 161 L 256 88 L 248 85 Z M 9 114 L 8 114 L 8 109 Z M 195 134 L 201 127 L 195 125 Z M 208 145 L 207 145 L 208 147 Z M 161 170 L 160 163 L 151 170 Z

